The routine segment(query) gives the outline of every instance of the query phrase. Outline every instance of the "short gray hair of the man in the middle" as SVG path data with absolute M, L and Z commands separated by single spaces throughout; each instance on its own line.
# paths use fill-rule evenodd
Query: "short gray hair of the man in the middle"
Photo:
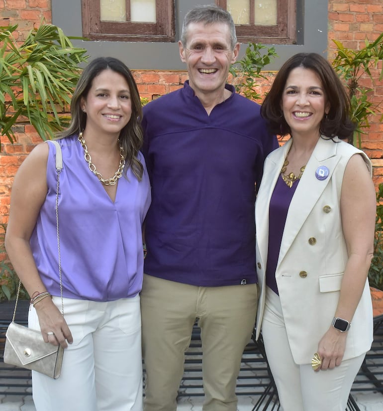
M 184 48 L 186 48 L 188 41 L 188 27 L 191 23 L 225 23 L 230 29 L 230 46 L 234 50 L 237 43 L 237 35 L 235 33 L 235 24 L 231 14 L 216 5 L 199 5 L 192 8 L 185 15 L 184 22 L 182 24 L 181 42 Z

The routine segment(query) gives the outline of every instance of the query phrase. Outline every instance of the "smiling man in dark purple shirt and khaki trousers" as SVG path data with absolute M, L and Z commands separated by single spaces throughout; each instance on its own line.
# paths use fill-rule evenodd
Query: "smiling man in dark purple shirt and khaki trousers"
M 145 411 L 176 411 L 195 320 L 201 327 L 204 411 L 236 411 L 236 379 L 257 309 L 255 186 L 278 146 L 259 105 L 226 84 L 239 51 L 231 15 L 187 13 L 184 88 L 144 108 L 152 185 L 141 293 Z

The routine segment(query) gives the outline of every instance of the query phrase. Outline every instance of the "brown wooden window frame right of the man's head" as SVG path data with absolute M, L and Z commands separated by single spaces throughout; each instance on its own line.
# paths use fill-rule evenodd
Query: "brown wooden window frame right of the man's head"
M 236 24 L 237 39 L 240 43 L 295 44 L 296 43 L 296 0 L 277 0 L 277 25 L 264 26 Z M 226 0 L 216 0 L 216 4 L 226 9 Z M 254 19 L 254 1 L 250 1 L 250 16 Z

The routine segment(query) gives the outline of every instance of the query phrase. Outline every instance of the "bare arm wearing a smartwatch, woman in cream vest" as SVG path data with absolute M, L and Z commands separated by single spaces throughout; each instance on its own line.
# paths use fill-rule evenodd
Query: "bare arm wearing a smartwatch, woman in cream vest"
M 340 210 L 349 259 L 334 316 L 352 321 L 373 257 L 376 216 L 374 184 L 359 154 L 353 155 L 347 164 L 342 183 Z M 329 327 L 318 346 L 318 353 L 323 359 L 322 369 L 340 365 L 347 334 L 332 326 Z

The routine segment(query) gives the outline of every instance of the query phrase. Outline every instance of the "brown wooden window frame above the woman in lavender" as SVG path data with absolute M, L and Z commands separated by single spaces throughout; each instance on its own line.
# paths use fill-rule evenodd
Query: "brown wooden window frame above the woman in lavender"
M 99 0 L 81 0 L 83 36 L 90 40 L 175 41 L 174 0 L 156 0 L 156 22 L 101 21 Z M 130 1 L 126 0 L 127 20 Z

